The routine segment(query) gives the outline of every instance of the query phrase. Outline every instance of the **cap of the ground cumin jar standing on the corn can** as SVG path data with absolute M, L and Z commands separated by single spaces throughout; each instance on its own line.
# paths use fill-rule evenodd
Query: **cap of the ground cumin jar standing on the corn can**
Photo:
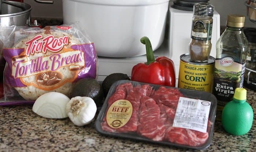
M 194 5 L 193 14 L 196 16 L 212 17 L 214 6 L 210 3 L 197 3 Z

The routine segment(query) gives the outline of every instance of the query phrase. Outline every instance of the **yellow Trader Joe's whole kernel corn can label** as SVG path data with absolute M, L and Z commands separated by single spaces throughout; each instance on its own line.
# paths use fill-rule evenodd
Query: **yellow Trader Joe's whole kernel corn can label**
M 214 62 L 208 64 L 180 61 L 178 87 L 183 89 L 206 91 L 212 90 Z

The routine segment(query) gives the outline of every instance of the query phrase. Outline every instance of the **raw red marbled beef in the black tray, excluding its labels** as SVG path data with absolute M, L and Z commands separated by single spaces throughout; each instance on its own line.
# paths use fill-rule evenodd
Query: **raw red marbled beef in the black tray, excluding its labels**
M 172 126 L 180 97 L 184 96 L 176 88 L 161 86 L 154 90 L 150 85 L 131 87 L 128 83 L 120 84 L 109 98 L 108 105 L 119 99 L 129 100 L 133 106 L 132 116 L 127 124 L 117 129 L 111 128 L 105 117 L 101 127 L 108 132 L 137 133 L 154 141 L 194 147 L 206 143 L 211 121 L 208 121 L 206 133 Z

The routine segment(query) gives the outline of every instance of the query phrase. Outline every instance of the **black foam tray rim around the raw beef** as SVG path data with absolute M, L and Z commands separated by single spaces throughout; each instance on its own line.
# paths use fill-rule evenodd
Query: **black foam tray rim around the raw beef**
M 194 146 L 189 146 L 189 145 L 171 143 L 169 141 L 154 141 L 154 140 L 148 139 L 146 137 L 140 136 L 137 133 L 112 133 L 112 132 L 107 132 L 105 130 L 102 130 L 101 122 L 102 122 L 103 118 L 105 117 L 106 112 L 108 110 L 108 99 L 109 99 L 109 97 L 112 96 L 112 94 L 115 92 L 115 89 L 118 85 L 123 84 L 123 83 L 127 83 L 127 82 L 131 82 L 133 86 L 148 84 L 148 85 L 152 86 L 153 89 L 155 89 L 155 90 L 157 90 L 160 87 L 159 85 L 154 85 L 154 84 L 150 84 L 150 83 L 136 82 L 136 81 L 129 81 L 129 80 L 120 80 L 120 81 L 115 82 L 110 87 L 109 93 L 108 93 L 107 97 L 105 98 L 105 102 L 103 103 L 102 108 L 101 108 L 101 110 L 98 114 L 98 117 L 97 117 L 96 121 L 95 121 L 95 129 L 99 133 L 101 133 L 102 135 L 106 135 L 106 136 L 120 137 L 120 138 L 123 138 L 123 139 L 138 140 L 138 141 L 144 141 L 144 142 L 147 142 L 147 143 L 167 145 L 167 146 L 178 147 L 178 148 L 191 148 L 191 149 L 202 150 L 202 149 L 206 149 L 210 146 L 210 144 L 212 142 L 213 131 L 214 131 L 214 123 L 215 123 L 216 109 L 217 109 L 217 99 L 213 94 L 208 93 L 208 92 L 204 92 L 204 91 L 195 91 L 195 90 L 176 88 L 183 95 L 185 95 L 185 97 L 187 97 L 187 98 L 199 99 L 199 100 L 204 100 L 204 101 L 210 101 L 211 102 L 208 120 L 210 120 L 212 122 L 212 125 L 211 125 L 211 128 L 210 128 L 210 131 L 208 132 L 209 137 L 208 137 L 206 143 L 204 143 L 203 145 L 194 147 Z M 174 87 L 169 87 L 169 86 L 164 86 L 164 87 L 174 88 Z

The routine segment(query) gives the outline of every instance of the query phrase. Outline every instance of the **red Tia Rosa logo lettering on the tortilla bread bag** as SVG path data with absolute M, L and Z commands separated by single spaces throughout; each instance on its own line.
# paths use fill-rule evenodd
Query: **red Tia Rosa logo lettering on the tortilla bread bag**
M 64 45 L 68 45 L 68 41 L 69 37 L 66 35 L 59 38 L 55 38 L 53 35 L 46 36 L 45 38 L 43 38 L 42 35 L 37 35 L 31 40 L 25 42 L 25 45 L 28 46 L 26 55 L 33 55 L 35 52 L 45 53 L 46 50 L 51 52 L 59 52 L 62 50 Z

